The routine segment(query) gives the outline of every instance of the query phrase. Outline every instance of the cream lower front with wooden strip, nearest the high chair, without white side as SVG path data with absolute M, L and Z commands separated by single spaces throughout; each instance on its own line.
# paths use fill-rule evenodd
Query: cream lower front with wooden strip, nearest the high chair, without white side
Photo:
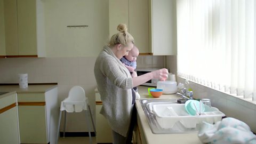
M 48 143 L 45 93 L 18 93 L 21 143 Z

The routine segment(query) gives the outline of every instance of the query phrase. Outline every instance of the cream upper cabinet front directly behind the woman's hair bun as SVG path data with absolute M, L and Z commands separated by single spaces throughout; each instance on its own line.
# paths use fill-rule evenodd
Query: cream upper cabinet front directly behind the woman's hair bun
M 148 0 L 109 1 L 109 35 L 118 33 L 117 26 L 125 23 L 140 54 L 150 53 L 148 20 Z

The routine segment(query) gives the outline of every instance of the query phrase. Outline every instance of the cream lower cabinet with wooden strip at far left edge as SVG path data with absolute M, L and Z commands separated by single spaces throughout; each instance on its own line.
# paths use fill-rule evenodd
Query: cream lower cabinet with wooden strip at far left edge
M 17 94 L 0 95 L 0 143 L 20 143 Z

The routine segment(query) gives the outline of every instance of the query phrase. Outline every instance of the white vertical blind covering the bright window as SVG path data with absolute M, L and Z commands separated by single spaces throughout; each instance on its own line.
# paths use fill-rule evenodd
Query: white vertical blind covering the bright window
M 256 1 L 177 0 L 178 76 L 256 101 Z

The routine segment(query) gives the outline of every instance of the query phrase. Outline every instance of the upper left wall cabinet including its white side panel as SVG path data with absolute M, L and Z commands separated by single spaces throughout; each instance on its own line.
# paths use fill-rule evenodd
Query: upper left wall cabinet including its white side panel
M 43 3 L 4 0 L 7 57 L 45 57 Z

